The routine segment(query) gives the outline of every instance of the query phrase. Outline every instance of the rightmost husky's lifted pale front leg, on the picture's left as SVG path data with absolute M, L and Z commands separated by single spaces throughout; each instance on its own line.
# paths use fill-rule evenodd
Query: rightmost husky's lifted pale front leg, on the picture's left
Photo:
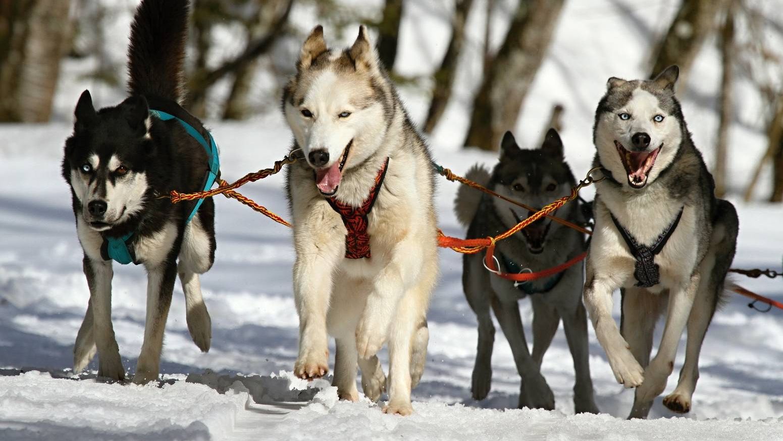
M 644 369 L 633 357 L 628 342 L 622 338 L 612 318 L 612 293 L 619 284 L 608 276 L 591 274 L 590 262 L 587 267 L 584 300 L 595 335 L 606 352 L 617 382 L 626 388 L 637 387 L 644 382 Z

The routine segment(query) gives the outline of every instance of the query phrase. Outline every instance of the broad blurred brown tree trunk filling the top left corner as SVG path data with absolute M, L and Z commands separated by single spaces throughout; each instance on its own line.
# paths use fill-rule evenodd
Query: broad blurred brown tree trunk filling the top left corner
M 0 121 L 49 120 L 69 13 L 70 0 L 0 2 Z

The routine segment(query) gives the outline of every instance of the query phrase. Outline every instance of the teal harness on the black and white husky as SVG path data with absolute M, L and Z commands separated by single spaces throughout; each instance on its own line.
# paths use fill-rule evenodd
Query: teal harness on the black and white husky
M 190 135 L 195 139 L 204 150 L 207 151 L 207 160 L 209 162 L 209 170 L 207 170 L 206 176 L 204 176 L 204 192 L 207 192 L 212 185 L 217 181 L 220 175 L 220 158 L 218 157 L 218 145 L 215 144 L 215 138 L 212 138 L 212 134 L 204 125 L 194 118 L 182 106 L 179 106 L 176 102 L 169 102 L 168 100 L 157 99 L 155 97 L 147 97 L 147 102 L 150 106 L 154 106 L 157 109 L 150 109 L 150 115 L 156 117 L 161 121 L 176 120 Z M 165 109 L 167 111 L 161 110 Z M 175 116 L 176 115 L 176 116 Z M 198 129 L 196 128 L 198 127 Z M 201 204 L 204 203 L 204 199 L 197 199 L 196 205 L 193 206 L 193 210 L 190 210 L 185 224 L 188 224 L 193 220 L 193 216 L 196 215 Z M 117 264 L 127 265 L 133 262 L 138 265 L 136 261 L 135 252 L 133 250 L 132 242 L 134 238 L 133 231 L 119 238 L 104 237 L 103 244 L 101 245 L 101 256 L 103 260 L 114 260 Z

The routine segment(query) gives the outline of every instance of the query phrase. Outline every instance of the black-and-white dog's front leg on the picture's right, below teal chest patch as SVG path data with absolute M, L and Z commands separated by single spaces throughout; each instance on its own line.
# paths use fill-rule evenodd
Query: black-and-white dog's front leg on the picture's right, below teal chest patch
M 144 342 L 136 373 L 135 384 L 143 385 L 157 379 L 161 368 L 163 333 L 171 307 L 171 295 L 177 278 L 177 264 L 174 260 L 147 268 L 147 307 L 144 323 Z

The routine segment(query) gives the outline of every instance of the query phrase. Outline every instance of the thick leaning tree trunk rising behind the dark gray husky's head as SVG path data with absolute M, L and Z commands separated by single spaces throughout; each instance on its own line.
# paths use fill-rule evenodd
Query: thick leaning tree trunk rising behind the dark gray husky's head
M 464 145 L 496 150 L 516 126 L 530 85 L 547 53 L 565 0 L 520 0 L 503 45 L 473 102 Z

